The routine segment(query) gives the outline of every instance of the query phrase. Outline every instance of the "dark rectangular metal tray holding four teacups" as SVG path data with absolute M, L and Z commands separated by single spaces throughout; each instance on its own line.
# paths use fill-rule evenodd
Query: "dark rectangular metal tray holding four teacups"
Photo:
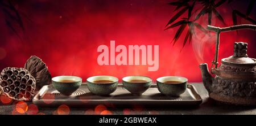
M 72 95 L 63 95 L 57 92 L 52 85 L 43 86 L 35 97 L 33 103 L 40 107 L 58 107 L 68 105 L 78 106 L 96 106 L 96 105 L 145 105 L 148 106 L 198 106 L 203 99 L 197 93 L 193 85 L 188 84 L 185 93 L 180 97 L 168 97 L 160 94 L 156 85 L 151 85 L 141 96 L 132 95 L 122 84 L 118 84 L 117 90 L 109 96 L 98 96 L 89 92 L 86 83 L 82 83 L 80 88 Z

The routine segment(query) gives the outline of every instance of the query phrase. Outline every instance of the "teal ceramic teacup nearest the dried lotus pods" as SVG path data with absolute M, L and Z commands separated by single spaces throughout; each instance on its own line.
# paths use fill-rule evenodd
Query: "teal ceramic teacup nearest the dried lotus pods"
M 56 76 L 52 78 L 54 88 L 64 95 L 71 95 L 81 84 L 82 79 L 77 76 Z

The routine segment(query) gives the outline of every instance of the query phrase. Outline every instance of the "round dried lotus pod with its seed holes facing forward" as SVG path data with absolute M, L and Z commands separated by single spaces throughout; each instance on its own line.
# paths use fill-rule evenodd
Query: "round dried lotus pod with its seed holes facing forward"
M 29 101 L 36 88 L 35 78 L 24 68 L 7 67 L 0 73 L 0 89 L 16 101 Z

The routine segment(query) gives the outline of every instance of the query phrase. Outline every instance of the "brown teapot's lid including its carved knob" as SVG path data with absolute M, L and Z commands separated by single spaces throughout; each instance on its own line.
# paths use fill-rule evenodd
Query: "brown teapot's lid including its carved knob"
M 255 60 L 249 58 L 247 55 L 247 43 L 235 42 L 234 54 L 228 58 L 222 59 L 222 62 L 247 64 L 247 63 L 255 63 Z

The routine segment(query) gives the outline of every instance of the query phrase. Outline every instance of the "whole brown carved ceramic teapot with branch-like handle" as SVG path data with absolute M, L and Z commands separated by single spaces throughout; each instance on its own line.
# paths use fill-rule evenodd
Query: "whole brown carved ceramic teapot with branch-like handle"
M 209 97 L 219 102 L 235 105 L 256 105 L 256 59 L 247 56 L 247 44 L 235 42 L 234 54 L 221 59 L 218 67 L 220 33 L 238 29 L 256 31 L 256 25 L 244 24 L 226 28 L 208 25 L 208 29 L 217 33 L 216 53 L 210 69 L 210 72 L 216 76 L 210 75 L 207 63 L 200 64 L 203 84 L 208 90 Z

